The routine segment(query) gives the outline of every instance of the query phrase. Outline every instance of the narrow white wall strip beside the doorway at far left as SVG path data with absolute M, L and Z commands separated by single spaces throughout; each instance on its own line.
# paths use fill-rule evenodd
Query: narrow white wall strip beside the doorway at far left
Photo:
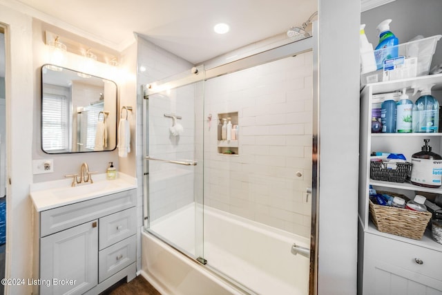
M 6 26 L 6 127 L 8 185 L 6 276 L 30 278 L 32 262 L 31 202 L 32 19 L 0 4 L 0 23 Z M 6 286 L 6 294 L 30 294 L 30 286 Z

